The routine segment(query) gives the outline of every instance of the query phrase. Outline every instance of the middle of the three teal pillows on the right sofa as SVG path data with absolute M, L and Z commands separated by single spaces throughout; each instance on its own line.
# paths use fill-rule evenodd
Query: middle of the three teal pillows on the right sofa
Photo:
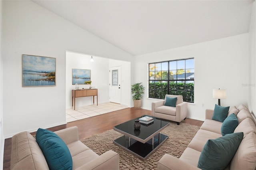
M 233 133 L 237 126 L 238 126 L 238 120 L 236 118 L 236 115 L 232 113 L 222 123 L 221 129 L 220 129 L 222 136 Z

